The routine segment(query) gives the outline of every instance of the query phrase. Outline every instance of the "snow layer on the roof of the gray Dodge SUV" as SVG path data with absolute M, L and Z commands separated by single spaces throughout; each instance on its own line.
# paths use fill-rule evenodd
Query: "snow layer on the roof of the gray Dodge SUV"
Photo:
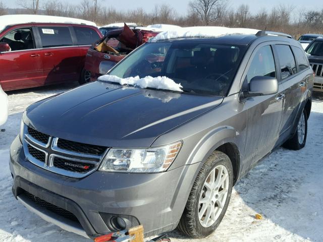
M 214 38 L 231 34 L 256 34 L 259 30 L 256 29 L 244 29 L 244 28 L 227 28 L 227 27 L 213 27 L 213 26 L 197 26 L 178 28 L 165 32 L 161 32 L 156 37 L 151 39 L 151 42 L 165 39 L 177 39 L 177 38 L 193 38 L 204 37 Z

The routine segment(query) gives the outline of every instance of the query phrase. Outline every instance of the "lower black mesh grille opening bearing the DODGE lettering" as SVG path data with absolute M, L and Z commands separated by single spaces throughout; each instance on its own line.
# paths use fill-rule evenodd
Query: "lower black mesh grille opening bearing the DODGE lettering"
M 83 163 L 55 157 L 53 160 L 53 166 L 72 172 L 87 173 L 89 170 L 92 170 L 95 165 L 92 163 Z

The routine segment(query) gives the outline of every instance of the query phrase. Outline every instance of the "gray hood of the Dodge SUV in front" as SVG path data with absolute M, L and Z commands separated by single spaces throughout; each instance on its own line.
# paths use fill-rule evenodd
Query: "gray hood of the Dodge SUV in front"
M 222 100 L 97 81 L 32 104 L 24 122 L 66 140 L 106 147 L 149 147 L 161 134 Z

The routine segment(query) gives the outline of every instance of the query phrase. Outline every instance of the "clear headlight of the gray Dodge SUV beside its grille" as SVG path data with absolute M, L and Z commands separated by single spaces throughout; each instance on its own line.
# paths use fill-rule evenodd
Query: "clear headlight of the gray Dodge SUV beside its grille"
M 99 171 L 160 172 L 175 160 L 182 142 L 148 149 L 111 149 L 105 155 Z

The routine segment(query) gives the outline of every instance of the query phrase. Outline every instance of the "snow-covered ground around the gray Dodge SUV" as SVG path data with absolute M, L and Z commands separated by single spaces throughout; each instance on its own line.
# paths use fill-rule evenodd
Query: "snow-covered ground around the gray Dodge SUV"
M 29 212 L 11 193 L 10 144 L 19 133 L 23 110 L 32 102 L 73 85 L 43 87 L 9 95 L 10 115 L 0 132 L 0 241 L 90 241 Z M 227 214 L 212 235 L 192 240 L 173 231 L 172 241 L 323 241 L 323 98 L 315 98 L 307 144 L 280 148 L 262 160 L 233 190 Z M 260 213 L 263 220 L 256 220 Z

